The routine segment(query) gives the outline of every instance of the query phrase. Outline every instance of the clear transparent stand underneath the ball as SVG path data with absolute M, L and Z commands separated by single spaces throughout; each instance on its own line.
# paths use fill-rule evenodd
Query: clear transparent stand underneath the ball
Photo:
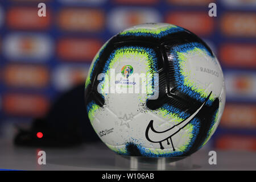
M 192 169 L 192 158 L 147 158 L 115 155 L 115 167 L 131 170 L 184 170 Z

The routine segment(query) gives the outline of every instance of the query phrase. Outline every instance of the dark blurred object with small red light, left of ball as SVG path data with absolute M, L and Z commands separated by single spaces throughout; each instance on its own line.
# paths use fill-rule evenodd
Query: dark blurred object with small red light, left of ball
M 41 133 L 43 137 L 38 135 Z M 81 84 L 62 94 L 44 118 L 35 118 L 30 130 L 19 129 L 14 143 L 64 147 L 98 140 L 86 112 L 84 84 Z

